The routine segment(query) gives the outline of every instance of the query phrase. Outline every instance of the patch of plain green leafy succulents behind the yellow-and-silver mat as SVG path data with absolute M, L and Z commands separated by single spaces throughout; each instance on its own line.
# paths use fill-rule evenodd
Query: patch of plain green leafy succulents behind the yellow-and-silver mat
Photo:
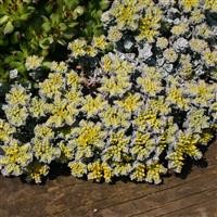
M 5 84 L 13 69 L 18 71 L 20 81 L 30 80 L 24 66 L 28 55 L 63 60 L 68 41 L 80 35 L 88 38 L 100 34 L 100 17 L 108 3 L 107 0 L 0 0 L 0 82 Z

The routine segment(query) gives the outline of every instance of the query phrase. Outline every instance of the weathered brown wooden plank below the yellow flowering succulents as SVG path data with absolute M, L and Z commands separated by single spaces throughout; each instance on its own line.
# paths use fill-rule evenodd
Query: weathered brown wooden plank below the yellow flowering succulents
M 217 217 L 217 143 L 205 156 L 207 166 L 194 165 L 187 177 L 157 187 L 71 176 L 33 186 L 0 177 L 0 217 Z

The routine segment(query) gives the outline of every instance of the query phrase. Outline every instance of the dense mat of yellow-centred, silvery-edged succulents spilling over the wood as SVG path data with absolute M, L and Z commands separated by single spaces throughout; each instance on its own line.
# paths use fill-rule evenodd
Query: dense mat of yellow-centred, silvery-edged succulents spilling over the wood
M 72 175 L 161 183 L 217 129 L 215 0 L 115 0 L 105 34 L 68 43 L 65 62 L 27 56 L 35 86 L 13 85 L 1 108 L 0 168 L 41 182 L 52 162 Z

